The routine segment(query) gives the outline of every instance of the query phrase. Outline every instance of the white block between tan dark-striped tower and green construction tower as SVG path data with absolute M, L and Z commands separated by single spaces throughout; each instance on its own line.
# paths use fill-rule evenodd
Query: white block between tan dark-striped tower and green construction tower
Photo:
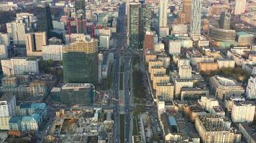
M 63 47 L 64 47 L 63 45 L 42 46 L 42 59 L 43 60 L 52 59 L 53 61 L 62 61 Z

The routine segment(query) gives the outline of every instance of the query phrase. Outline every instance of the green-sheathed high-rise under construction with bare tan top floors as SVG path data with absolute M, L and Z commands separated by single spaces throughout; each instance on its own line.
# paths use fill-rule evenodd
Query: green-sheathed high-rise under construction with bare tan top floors
M 98 40 L 80 39 L 63 48 L 64 82 L 97 83 Z

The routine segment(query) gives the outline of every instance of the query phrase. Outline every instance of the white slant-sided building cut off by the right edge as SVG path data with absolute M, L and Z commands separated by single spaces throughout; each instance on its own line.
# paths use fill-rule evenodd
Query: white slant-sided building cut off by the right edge
M 247 99 L 256 99 L 256 75 L 248 79 L 245 95 Z

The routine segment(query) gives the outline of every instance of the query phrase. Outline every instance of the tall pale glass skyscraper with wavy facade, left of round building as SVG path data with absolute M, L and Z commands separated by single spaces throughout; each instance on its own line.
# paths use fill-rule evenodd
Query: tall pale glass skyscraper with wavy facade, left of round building
M 203 7 L 203 0 L 192 0 L 191 4 L 191 36 L 200 36 L 201 34 L 201 11 Z

